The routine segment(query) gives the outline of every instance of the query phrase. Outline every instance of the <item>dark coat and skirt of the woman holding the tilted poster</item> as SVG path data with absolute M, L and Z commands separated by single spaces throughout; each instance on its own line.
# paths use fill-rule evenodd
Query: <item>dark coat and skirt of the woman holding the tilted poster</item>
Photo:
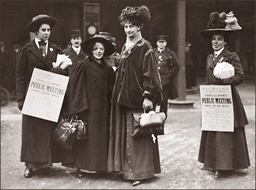
M 22 45 L 17 54 L 16 67 L 16 93 L 17 102 L 24 104 L 26 92 L 34 68 L 49 71 L 52 62 L 56 62 L 57 54 L 62 54 L 58 45 L 48 44 L 45 58 L 32 40 Z M 60 162 L 62 150 L 55 142 L 51 141 L 51 131 L 57 123 L 33 116 L 22 115 L 22 145 L 20 161 L 22 162 L 48 162 L 51 150 L 52 162 Z

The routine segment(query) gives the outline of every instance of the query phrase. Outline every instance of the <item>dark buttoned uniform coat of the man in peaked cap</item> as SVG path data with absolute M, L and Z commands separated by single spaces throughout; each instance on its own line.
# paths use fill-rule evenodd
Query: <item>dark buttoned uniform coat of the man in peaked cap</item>
M 180 70 L 179 60 L 175 52 L 167 47 L 163 52 L 159 52 L 157 48 L 154 49 L 157 59 L 157 68 L 161 77 L 162 86 L 168 86 L 170 99 L 177 99 L 179 97 L 178 89 L 175 84 L 175 76 Z

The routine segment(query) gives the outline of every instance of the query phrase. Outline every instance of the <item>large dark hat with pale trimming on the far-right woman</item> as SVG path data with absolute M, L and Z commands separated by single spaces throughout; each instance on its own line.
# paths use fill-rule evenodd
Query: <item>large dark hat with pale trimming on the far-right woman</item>
M 218 13 L 213 12 L 210 14 L 209 22 L 207 28 L 201 31 L 200 34 L 207 38 L 212 38 L 215 33 L 225 33 L 230 35 L 236 30 L 242 29 L 237 23 L 236 17 L 234 17 L 233 12 L 226 14 L 225 12 Z

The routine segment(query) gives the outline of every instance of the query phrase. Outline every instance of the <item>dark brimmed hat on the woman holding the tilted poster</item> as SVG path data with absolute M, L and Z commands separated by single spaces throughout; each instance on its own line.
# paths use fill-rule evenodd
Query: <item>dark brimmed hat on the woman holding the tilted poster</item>
M 36 27 L 39 24 L 49 24 L 51 28 L 55 26 L 57 19 L 54 17 L 50 17 L 49 15 L 37 15 L 32 19 L 32 21 L 28 24 L 27 29 L 30 32 L 35 32 Z

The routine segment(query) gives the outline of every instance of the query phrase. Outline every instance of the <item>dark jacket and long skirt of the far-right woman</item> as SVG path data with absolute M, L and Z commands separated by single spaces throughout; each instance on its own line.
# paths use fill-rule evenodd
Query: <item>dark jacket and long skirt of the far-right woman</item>
M 203 162 L 205 168 L 218 170 L 248 168 L 250 159 L 244 132 L 244 125 L 248 124 L 248 120 L 235 87 L 243 83 L 243 67 L 236 52 L 229 52 L 227 49 L 224 49 L 214 61 L 212 58 L 213 54 L 207 57 L 206 84 L 208 85 L 214 82 L 213 70 L 221 58 L 223 58 L 222 61 L 233 65 L 235 69 L 233 77 L 223 79 L 223 85 L 231 85 L 234 104 L 234 132 L 202 131 L 198 161 Z

